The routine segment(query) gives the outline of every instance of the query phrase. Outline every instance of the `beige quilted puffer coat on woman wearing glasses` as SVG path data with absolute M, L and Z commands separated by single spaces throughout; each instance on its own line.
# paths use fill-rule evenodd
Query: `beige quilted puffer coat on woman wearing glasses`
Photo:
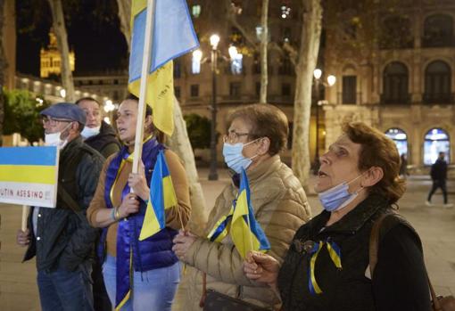
M 295 231 L 310 219 L 310 206 L 302 184 L 278 155 L 248 171 L 247 175 L 254 215 L 271 245 L 269 254 L 281 262 Z M 220 217 L 227 215 L 237 191 L 234 184 L 229 184 L 221 192 L 209 216 L 206 234 Z M 185 310 L 201 310 L 203 272 L 207 274 L 207 289 L 240 297 L 262 307 L 279 305 L 279 299 L 268 287 L 255 286 L 244 276 L 243 259 L 230 235 L 221 243 L 208 241 L 205 237 L 197 239 L 184 258 L 189 266 L 195 267 L 188 269 L 186 275 L 187 291 L 182 303 Z

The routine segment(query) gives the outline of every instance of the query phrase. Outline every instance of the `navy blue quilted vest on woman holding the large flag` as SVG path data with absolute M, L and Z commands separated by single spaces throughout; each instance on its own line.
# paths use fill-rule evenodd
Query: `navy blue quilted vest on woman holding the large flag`
M 149 186 L 158 152 L 163 149 L 165 147 L 155 138 L 148 140 L 143 145 L 142 160 L 145 164 L 145 178 Z M 107 168 L 104 201 L 108 209 L 112 209 L 110 196 L 112 185 L 119 172 L 121 162 L 126 161 L 128 156 L 128 148 L 123 146 Z M 121 193 L 122 200 L 128 192 L 129 186 L 126 184 Z M 178 261 L 177 256 L 171 250 L 172 239 L 178 233 L 176 230 L 166 227 L 144 241 L 138 240 L 144 222 L 145 208 L 145 201 L 140 200 L 139 212 L 120 220 L 117 231 L 117 262 L 122 263 L 122 266 L 129 266 L 130 250 L 132 250 L 133 268 L 135 271 L 141 272 L 171 266 Z M 98 245 L 98 256 L 101 262 L 104 261 L 106 236 L 107 227 L 103 228 Z

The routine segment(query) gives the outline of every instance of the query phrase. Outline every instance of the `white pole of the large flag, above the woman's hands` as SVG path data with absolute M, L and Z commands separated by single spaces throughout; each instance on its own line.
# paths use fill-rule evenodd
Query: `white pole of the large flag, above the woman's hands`
M 133 157 L 133 168 L 132 172 L 137 173 L 139 171 L 139 162 L 142 157 L 142 143 L 144 141 L 144 121 L 145 121 L 145 95 L 147 94 L 147 76 L 150 68 L 151 55 L 153 45 L 153 24 L 154 24 L 154 12 L 155 12 L 155 0 L 147 0 L 147 14 L 145 20 L 145 42 L 144 42 L 144 53 L 142 59 L 142 70 L 141 70 L 141 85 L 139 89 L 139 104 L 137 107 L 137 120 L 136 120 L 136 138 L 135 138 L 135 150 Z M 132 189 L 131 189 L 131 192 Z

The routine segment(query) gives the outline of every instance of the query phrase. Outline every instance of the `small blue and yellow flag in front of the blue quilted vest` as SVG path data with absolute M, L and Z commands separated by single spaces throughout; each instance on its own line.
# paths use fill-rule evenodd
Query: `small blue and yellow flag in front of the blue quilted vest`
M 144 224 L 142 225 L 139 241 L 143 241 L 153 234 L 160 232 L 166 226 L 165 209 L 177 206 L 177 196 L 164 151 L 158 153 L 150 182 L 150 200 L 145 210 Z

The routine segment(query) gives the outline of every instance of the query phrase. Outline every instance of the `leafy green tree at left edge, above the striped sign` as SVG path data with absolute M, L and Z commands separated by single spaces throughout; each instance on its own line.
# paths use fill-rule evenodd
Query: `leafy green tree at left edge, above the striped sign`
M 4 135 L 19 133 L 30 143 L 44 135 L 39 112 L 49 103 L 24 90 L 4 90 Z

